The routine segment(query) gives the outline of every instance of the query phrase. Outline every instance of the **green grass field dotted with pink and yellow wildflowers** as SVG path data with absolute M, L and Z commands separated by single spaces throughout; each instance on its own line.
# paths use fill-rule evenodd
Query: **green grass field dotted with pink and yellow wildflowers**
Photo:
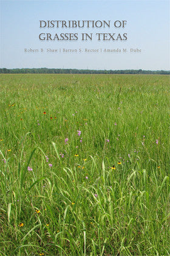
M 1 75 L 0 255 L 170 255 L 169 76 Z

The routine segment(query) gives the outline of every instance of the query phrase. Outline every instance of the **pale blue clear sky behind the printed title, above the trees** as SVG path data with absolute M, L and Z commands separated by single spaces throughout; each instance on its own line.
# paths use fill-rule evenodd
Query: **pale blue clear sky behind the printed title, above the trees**
M 0 4 L 0 68 L 170 69 L 168 0 L 0 0 Z M 40 28 L 41 20 L 110 20 L 110 27 Z M 126 26 L 115 27 L 115 21 L 126 21 Z M 77 34 L 78 40 L 39 40 L 39 34 L 61 38 L 61 33 Z M 85 33 L 92 34 L 92 40 L 81 40 Z M 127 34 L 127 40 L 98 40 L 99 33 L 107 38 L 115 34 L 114 39 Z

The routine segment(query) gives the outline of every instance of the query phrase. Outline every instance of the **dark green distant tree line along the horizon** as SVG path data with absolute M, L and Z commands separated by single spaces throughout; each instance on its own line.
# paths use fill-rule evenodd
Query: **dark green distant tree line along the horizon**
M 64 68 L 0 68 L 0 74 L 170 74 L 165 70 L 95 70 L 95 69 L 64 69 Z

